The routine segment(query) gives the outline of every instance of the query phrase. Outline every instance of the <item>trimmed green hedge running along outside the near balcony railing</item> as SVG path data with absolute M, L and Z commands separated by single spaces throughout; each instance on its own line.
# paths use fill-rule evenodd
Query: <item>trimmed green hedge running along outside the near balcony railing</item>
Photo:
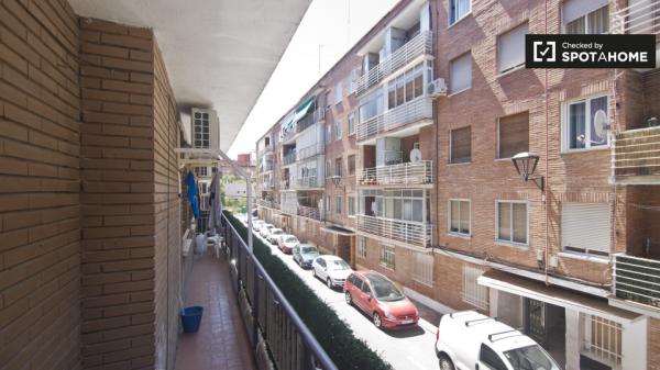
M 248 229 L 243 223 L 230 212 L 226 211 L 224 214 L 245 239 Z M 392 369 L 392 366 L 369 348 L 364 340 L 356 338 L 337 313 L 279 257 L 274 256 L 271 248 L 258 237 L 253 238 L 253 247 L 258 261 L 339 369 Z

